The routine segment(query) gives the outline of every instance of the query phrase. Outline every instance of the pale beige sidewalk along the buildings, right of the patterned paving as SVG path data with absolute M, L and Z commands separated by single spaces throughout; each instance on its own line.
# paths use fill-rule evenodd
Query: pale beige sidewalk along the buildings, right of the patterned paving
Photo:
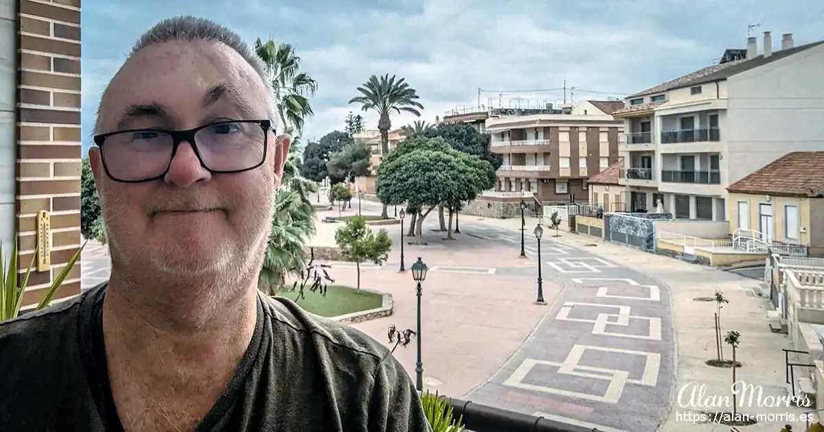
M 521 227 L 520 219 L 495 220 L 475 216 L 473 221 L 492 225 L 508 230 L 518 230 Z M 527 226 L 537 223 L 536 218 L 527 218 Z M 747 384 L 761 385 L 764 396 L 785 396 L 784 353 L 782 348 L 789 348 L 789 339 L 786 335 L 770 332 L 766 318 L 768 300 L 756 296 L 760 287 L 759 281 L 747 279 L 732 273 L 714 270 L 709 267 L 680 262 L 673 258 L 645 253 L 636 249 L 625 248 L 617 244 L 609 244 L 601 239 L 586 235 L 576 235 L 559 231 L 560 237 L 545 239 L 548 242 L 558 242 L 585 249 L 612 262 L 620 263 L 638 272 L 661 281 L 672 290 L 672 311 L 675 321 L 675 335 L 677 346 L 677 379 L 676 391 L 672 394 L 672 411 L 665 425 L 660 430 L 664 432 L 681 431 L 727 431 L 723 425 L 693 425 L 678 414 L 688 411 L 730 411 L 730 408 L 698 407 L 689 405 L 691 394 L 690 385 L 705 384 L 705 397 L 732 396 L 731 385 L 732 369 L 714 368 L 705 365 L 705 360 L 716 357 L 714 337 L 713 301 L 696 301 L 700 297 L 713 297 L 716 290 L 721 290 L 729 300 L 729 304 L 722 309 L 723 333 L 736 330 L 741 333 L 741 343 L 737 349 L 737 360 L 743 363 L 737 369 L 737 380 Z M 546 236 L 545 236 L 546 237 Z M 731 355 L 730 346 L 724 344 L 725 358 Z M 681 396 L 679 406 L 678 393 L 681 388 L 687 388 Z M 707 402 L 707 401 L 705 401 Z M 771 419 L 760 420 L 752 429 L 778 431 L 784 425 L 793 425 L 794 430 L 805 430 L 806 422 L 801 420 L 802 409 L 794 406 L 775 406 L 766 400 L 769 406 L 758 406 L 756 402 L 746 403 L 738 411 L 747 415 L 773 414 Z M 788 418 L 794 417 L 794 418 Z M 784 416 L 784 418 L 782 418 Z M 772 420 L 772 421 L 770 421 Z

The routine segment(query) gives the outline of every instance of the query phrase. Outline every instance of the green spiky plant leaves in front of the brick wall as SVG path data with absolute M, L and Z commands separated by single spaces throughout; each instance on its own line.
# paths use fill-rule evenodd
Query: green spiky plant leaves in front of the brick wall
M 68 276 L 68 272 L 72 271 L 72 267 L 74 267 L 77 259 L 80 258 L 80 253 L 85 247 L 86 243 L 83 243 L 80 249 L 77 249 L 77 252 L 74 253 L 72 259 L 68 260 L 68 264 L 63 267 L 63 271 L 54 278 L 51 286 L 45 290 L 45 295 L 43 296 L 43 299 L 40 300 L 40 303 L 37 304 L 35 310 L 44 309 L 51 304 L 54 294 L 57 293 L 58 288 L 63 285 L 63 281 L 66 279 L 66 276 Z M 0 243 L 0 257 L 2 257 L 2 254 L 2 243 Z M 20 269 L 18 263 L 19 258 L 17 256 L 17 239 L 15 239 L 8 262 L 0 262 L 0 274 L 2 274 L 2 287 L 0 287 L 2 288 L 2 291 L 0 291 L 0 322 L 17 318 L 17 316 L 20 315 L 20 308 L 23 305 L 23 295 L 26 293 L 26 288 L 29 286 L 29 276 L 31 274 L 32 267 L 35 267 L 36 257 L 37 254 L 35 253 L 35 255 L 31 257 L 31 262 L 29 263 L 29 267 L 26 269 L 26 274 L 23 275 L 22 279 L 20 279 Z

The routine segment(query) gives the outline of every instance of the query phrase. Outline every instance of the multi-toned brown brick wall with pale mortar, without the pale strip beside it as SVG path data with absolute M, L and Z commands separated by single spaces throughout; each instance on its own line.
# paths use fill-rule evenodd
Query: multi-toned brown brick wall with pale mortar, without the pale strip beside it
M 19 0 L 16 230 L 35 253 L 37 212 L 51 213 L 51 271 L 32 272 L 24 307 L 42 298 L 80 246 L 80 0 Z M 80 293 L 80 262 L 55 299 Z

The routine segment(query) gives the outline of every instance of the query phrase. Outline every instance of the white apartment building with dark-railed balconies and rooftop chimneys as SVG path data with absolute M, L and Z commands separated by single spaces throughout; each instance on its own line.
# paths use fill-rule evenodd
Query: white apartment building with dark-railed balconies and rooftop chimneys
M 775 49 L 764 33 L 704 67 L 626 98 L 619 152 L 629 210 L 726 221 L 727 187 L 790 151 L 824 149 L 824 41 Z

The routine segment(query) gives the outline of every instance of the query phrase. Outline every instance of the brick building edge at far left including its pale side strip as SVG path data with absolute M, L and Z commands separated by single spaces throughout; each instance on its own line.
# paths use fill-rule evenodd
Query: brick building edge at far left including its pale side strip
M 48 258 L 24 308 L 80 247 L 80 89 L 80 0 L 0 2 L 0 240 L 18 239 L 23 267 Z M 80 293 L 80 267 L 56 299 Z

